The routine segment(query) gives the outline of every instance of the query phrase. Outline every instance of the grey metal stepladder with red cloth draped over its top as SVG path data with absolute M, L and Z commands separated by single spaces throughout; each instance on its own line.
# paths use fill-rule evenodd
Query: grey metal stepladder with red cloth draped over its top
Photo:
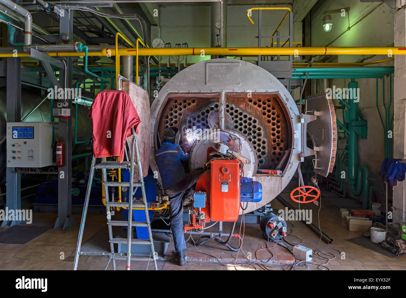
M 106 161 L 106 158 L 102 158 L 102 162 L 100 164 L 96 164 L 96 158 L 93 156 L 91 169 L 90 169 L 90 175 L 89 175 L 89 182 L 88 182 L 87 190 L 86 190 L 86 199 L 84 201 L 84 206 L 83 206 L 82 220 L 80 221 L 78 243 L 76 244 L 75 258 L 73 261 L 73 270 L 76 270 L 78 268 L 78 261 L 79 261 L 80 255 L 109 256 L 110 260 L 112 260 L 114 270 L 116 270 L 116 260 L 127 260 L 126 270 L 130 270 L 130 262 L 132 260 L 150 261 L 152 259 L 155 264 L 155 270 L 158 270 L 158 267 L 156 264 L 155 249 L 153 246 L 151 224 L 149 221 L 148 203 L 147 203 L 147 196 L 145 194 L 143 170 L 141 167 L 137 134 L 135 133 L 134 128 L 132 128 L 132 134 L 134 137 L 131 142 L 132 147 L 130 147 L 130 140 L 129 140 L 129 138 L 127 138 L 127 145 L 128 145 L 128 147 L 132 148 L 132 149 L 130 149 L 130 159 L 128 158 L 127 148 L 125 147 L 125 155 L 127 156 L 127 161 L 123 161 L 120 163 L 120 162 L 115 162 L 115 161 Z M 135 153 L 135 157 L 136 157 L 136 162 L 134 161 L 134 153 Z M 136 164 L 138 165 L 138 174 L 140 177 L 140 179 L 139 179 L 140 181 L 134 183 L 134 181 L 133 181 L 134 180 L 134 169 L 135 169 Z M 108 182 L 107 181 L 107 169 L 117 169 L 117 168 L 123 168 L 123 169 L 130 170 L 129 171 L 130 172 L 130 181 L 129 182 Z M 91 252 L 91 251 L 89 251 L 89 252 L 80 251 L 80 247 L 82 245 L 84 223 L 86 221 L 87 208 L 89 206 L 89 197 L 90 197 L 90 191 L 91 191 L 91 187 L 92 187 L 93 175 L 94 175 L 95 169 L 102 169 L 103 181 L 105 181 L 104 182 L 104 193 L 105 193 L 105 199 L 106 199 L 107 226 L 108 226 L 108 235 L 109 235 L 109 239 L 110 239 L 109 242 L 110 242 L 110 249 L 111 249 L 110 253 L 96 253 L 96 252 Z M 114 198 L 112 199 L 112 202 L 110 202 L 109 196 L 108 196 L 108 187 L 109 186 L 128 187 L 127 192 L 130 192 L 129 196 L 128 196 L 129 202 L 114 202 Z M 132 197 L 133 197 L 134 186 L 141 187 L 142 194 L 143 194 L 143 203 L 133 202 Z M 128 208 L 128 221 L 111 220 L 110 207 Z M 146 217 L 145 222 L 132 221 L 132 215 L 133 215 L 132 209 L 136 208 L 136 207 L 141 207 L 141 208 L 145 209 L 145 217 Z M 113 238 L 112 226 L 127 226 L 127 238 Z M 131 239 L 132 227 L 137 227 L 137 226 L 148 228 L 149 239 Z M 127 253 L 115 253 L 114 252 L 114 243 L 127 243 Z M 151 246 L 151 255 L 149 257 L 131 256 L 131 244 L 150 245 Z M 110 262 L 110 260 L 109 260 L 109 262 Z

